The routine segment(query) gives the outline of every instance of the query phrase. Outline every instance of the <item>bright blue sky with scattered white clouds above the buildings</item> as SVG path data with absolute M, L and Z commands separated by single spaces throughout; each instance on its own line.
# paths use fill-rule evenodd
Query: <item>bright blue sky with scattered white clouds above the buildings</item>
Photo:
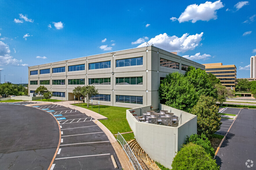
M 250 76 L 256 1 L 0 1 L 1 82 L 28 67 L 150 45 Z M 246 67 L 247 66 L 247 67 Z

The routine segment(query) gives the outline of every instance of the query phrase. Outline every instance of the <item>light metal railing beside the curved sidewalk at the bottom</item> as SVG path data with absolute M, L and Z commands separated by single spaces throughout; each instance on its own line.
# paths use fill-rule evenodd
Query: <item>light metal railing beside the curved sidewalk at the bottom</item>
M 142 167 L 140 166 L 139 161 L 137 160 L 136 156 L 133 154 L 131 151 L 131 148 L 129 147 L 128 143 L 125 141 L 123 136 L 118 132 L 117 133 L 117 138 L 116 140 L 121 144 L 123 150 L 127 154 L 132 166 L 134 167 L 135 170 L 143 170 Z

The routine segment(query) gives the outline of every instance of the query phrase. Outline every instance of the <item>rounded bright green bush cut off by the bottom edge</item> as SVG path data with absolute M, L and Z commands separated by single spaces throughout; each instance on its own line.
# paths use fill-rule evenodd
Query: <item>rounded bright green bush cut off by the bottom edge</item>
M 194 143 L 183 145 L 172 161 L 172 170 L 219 170 L 216 160 Z

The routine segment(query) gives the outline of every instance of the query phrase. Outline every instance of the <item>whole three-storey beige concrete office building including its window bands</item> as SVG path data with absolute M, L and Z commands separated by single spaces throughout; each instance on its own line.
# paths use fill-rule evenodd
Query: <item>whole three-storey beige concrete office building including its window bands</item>
M 166 74 L 186 73 L 189 66 L 205 66 L 154 46 L 75 58 L 28 68 L 30 95 L 40 85 L 53 99 L 74 100 L 76 86 L 95 85 L 94 104 L 137 108 L 159 107 L 158 88 Z

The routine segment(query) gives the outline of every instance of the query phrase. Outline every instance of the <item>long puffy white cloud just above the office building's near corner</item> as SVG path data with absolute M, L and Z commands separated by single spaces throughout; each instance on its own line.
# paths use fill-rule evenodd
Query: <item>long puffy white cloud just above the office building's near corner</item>
M 147 43 L 154 44 L 154 46 L 171 51 L 171 52 L 185 52 L 193 50 L 197 46 L 200 46 L 203 32 L 201 34 L 190 35 L 188 33 L 183 34 L 180 38 L 177 36 L 168 36 L 166 33 L 159 34 L 155 38 L 151 38 Z M 147 44 L 143 43 L 138 47 L 146 47 Z

